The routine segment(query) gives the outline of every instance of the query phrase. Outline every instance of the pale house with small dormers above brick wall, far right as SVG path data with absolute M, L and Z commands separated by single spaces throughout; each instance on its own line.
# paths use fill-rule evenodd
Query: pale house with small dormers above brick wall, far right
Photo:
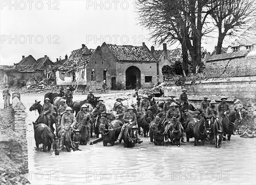
M 245 30 L 227 49 L 227 53 L 241 51 L 256 51 L 256 23 Z

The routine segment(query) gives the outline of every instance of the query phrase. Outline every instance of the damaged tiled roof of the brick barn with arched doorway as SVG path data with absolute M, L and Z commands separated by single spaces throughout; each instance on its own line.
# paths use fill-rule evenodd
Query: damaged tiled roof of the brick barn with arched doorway
M 131 46 L 122 45 L 117 46 L 116 44 L 107 44 L 111 49 L 111 52 L 116 56 L 119 61 L 143 61 L 143 62 L 156 62 L 156 59 L 143 46 Z

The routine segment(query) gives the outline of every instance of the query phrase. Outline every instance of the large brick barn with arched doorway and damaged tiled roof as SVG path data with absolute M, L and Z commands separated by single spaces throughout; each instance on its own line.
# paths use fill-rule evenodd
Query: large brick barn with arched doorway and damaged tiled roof
M 147 88 L 157 84 L 157 60 L 143 46 L 103 43 L 98 46 L 86 67 L 87 89 L 100 89 L 103 80 L 108 87 Z

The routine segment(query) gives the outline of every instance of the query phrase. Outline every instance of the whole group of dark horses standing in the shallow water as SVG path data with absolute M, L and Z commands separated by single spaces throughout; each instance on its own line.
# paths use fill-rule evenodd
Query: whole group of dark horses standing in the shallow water
M 47 93 L 49 95 L 49 93 Z M 49 97 L 49 96 L 48 96 Z M 51 99 L 52 98 L 52 99 Z M 84 101 L 74 101 L 70 104 L 70 107 L 77 113 L 81 109 L 83 104 L 89 107 L 89 113 L 84 116 L 84 119 L 76 125 L 76 128 L 69 128 L 65 133 L 65 136 L 61 136 L 60 124 L 61 116 L 57 115 L 57 110 L 59 106 L 59 100 L 61 96 L 51 97 L 50 100 L 53 103 L 52 106 L 52 119 L 51 123 L 47 122 L 46 116 L 39 115 L 38 119 L 35 121 L 35 141 L 36 146 L 43 144 L 43 151 L 51 149 L 51 146 L 55 150 L 55 154 L 59 154 L 60 139 L 64 137 L 64 145 L 67 151 L 72 148 L 74 151 L 78 150 L 79 145 L 87 145 L 90 141 L 90 137 L 93 137 L 93 133 L 99 138 L 101 134 L 103 139 L 103 145 L 107 146 L 110 143 L 114 145 L 116 139 L 119 136 L 123 122 L 118 119 L 115 111 L 113 109 L 113 104 L 116 101 L 107 100 L 105 105 L 107 111 L 111 111 L 111 114 L 100 113 L 95 107 L 97 101 L 100 97 L 96 97 L 95 100 L 84 100 Z M 165 142 L 171 143 L 171 145 L 180 146 L 180 139 L 182 132 L 180 129 L 179 121 L 176 117 L 166 121 L 166 117 L 162 113 L 164 102 L 158 103 L 154 98 L 150 99 L 151 107 L 146 112 L 139 111 L 137 107 L 137 101 L 135 98 L 131 98 L 128 101 L 122 101 L 125 108 L 128 106 L 134 107 L 134 113 L 137 113 L 137 125 L 128 125 L 125 128 L 122 140 L 124 141 L 124 147 L 134 147 L 137 142 L 137 133 L 140 134 L 141 128 L 143 129 L 143 136 L 150 137 L 150 141 L 154 142 L 154 145 L 164 145 Z M 35 101 L 35 103 L 30 107 L 30 111 L 38 110 L 40 114 L 42 105 L 40 101 Z M 205 117 L 204 113 L 195 110 L 192 104 L 189 105 L 190 110 L 183 110 L 183 107 L 179 106 L 180 110 L 180 122 L 186 131 L 186 140 L 195 138 L 195 146 L 198 145 L 198 141 L 201 140 L 201 144 L 204 145 L 206 140 L 210 141 L 210 144 L 215 143 L 216 147 L 221 147 L 222 136 L 228 135 L 228 140 L 232 135 L 235 120 L 241 120 L 241 113 L 239 110 L 235 110 L 230 113 L 230 115 L 224 117 L 222 120 L 223 128 L 218 122 L 211 122 Z M 89 123 L 89 124 L 88 124 Z M 56 128 L 56 135 L 54 134 L 54 127 Z M 90 127 L 87 127 L 90 125 Z M 215 142 L 213 142 L 215 140 Z M 120 141 L 121 142 L 121 141 Z

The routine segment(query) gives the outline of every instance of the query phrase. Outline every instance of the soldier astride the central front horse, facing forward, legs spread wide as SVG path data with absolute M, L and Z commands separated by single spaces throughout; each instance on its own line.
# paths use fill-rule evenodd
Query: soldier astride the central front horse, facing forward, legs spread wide
M 122 135 L 125 131 L 125 128 L 128 126 L 128 124 L 133 124 L 133 125 L 136 125 L 137 124 L 137 119 L 136 119 L 136 115 L 134 114 L 133 110 L 134 108 L 133 107 L 128 107 L 128 112 L 125 113 L 124 117 L 123 117 L 123 123 L 124 125 L 122 126 L 122 129 L 121 129 L 121 132 L 118 136 L 118 139 L 116 140 L 117 143 L 119 143 L 122 139 Z M 143 141 L 140 140 L 140 136 L 139 134 L 137 133 L 136 135 L 136 138 L 138 140 L 138 144 L 142 143 Z

